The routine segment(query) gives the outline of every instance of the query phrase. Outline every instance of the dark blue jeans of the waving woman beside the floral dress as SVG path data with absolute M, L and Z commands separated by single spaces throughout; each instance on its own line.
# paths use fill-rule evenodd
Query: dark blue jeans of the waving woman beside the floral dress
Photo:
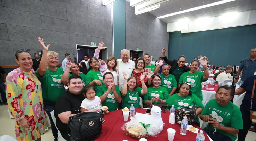
M 51 129 L 52 129 L 52 133 L 53 133 L 53 137 L 54 137 L 54 141 L 58 141 L 58 130 L 53 122 L 53 119 L 51 117 L 50 112 L 52 112 L 55 108 L 55 102 L 49 101 L 49 100 L 43 100 L 43 105 L 44 105 L 44 110 L 47 113 L 47 115 L 49 116 L 50 119 L 50 125 L 51 125 Z

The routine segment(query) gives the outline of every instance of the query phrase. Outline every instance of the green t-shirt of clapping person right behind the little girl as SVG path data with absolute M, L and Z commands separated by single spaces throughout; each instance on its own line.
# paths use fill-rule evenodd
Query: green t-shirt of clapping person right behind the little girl
M 108 88 L 104 84 L 102 84 L 101 86 L 95 88 L 95 90 L 96 90 L 96 96 L 100 97 L 100 96 L 102 96 L 108 90 Z M 117 85 L 115 85 L 115 91 L 117 91 L 117 94 L 119 96 L 121 96 L 119 87 Z M 114 96 L 114 94 L 112 92 L 112 89 L 109 92 L 107 98 L 104 100 L 104 102 L 102 102 L 102 105 L 103 106 L 107 106 L 108 107 L 108 111 L 110 111 L 110 112 L 114 111 L 114 110 L 117 110 L 118 102 L 115 99 L 115 96 Z

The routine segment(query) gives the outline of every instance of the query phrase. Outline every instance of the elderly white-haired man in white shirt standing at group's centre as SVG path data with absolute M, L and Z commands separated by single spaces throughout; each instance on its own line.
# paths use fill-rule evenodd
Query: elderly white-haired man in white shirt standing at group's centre
M 132 75 L 132 70 L 135 69 L 135 64 L 129 59 L 129 51 L 127 49 L 121 50 L 121 59 L 117 60 L 117 73 L 118 73 L 118 87 L 122 91 L 124 86 L 123 71 L 127 74 L 127 77 Z

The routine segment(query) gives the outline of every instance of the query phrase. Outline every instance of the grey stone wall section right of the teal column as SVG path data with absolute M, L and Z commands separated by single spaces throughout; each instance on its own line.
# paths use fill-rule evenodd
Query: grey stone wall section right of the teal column
M 156 60 L 162 56 L 162 48 L 168 49 L 167 23 L 150 13 L 134 14 L 134 7 L 125 1 L 125 45 L 126 49 L 144 51 Z M 168 51 L 166 51 L 168 54 Z

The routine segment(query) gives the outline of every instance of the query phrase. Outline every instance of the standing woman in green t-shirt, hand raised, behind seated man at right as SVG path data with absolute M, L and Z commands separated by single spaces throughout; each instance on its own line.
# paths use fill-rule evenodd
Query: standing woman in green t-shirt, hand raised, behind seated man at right
M 191 92 L 196 94 L 201 101 L 203 100 L 201 83 L 205 82 L 209 77 L 209 72 L 206 66 L 207 60 L 207 57 L 204 57 L 202 59 L 202 63 L 200 62 L 200 64 L 203 66 L 204 72 L 197 71 L 199 68 L 199 62 L 194 60 L 191 62 L 190 71 L 183 73 L 179 80 L 179 86 L 182 82 L 191 83 Z

